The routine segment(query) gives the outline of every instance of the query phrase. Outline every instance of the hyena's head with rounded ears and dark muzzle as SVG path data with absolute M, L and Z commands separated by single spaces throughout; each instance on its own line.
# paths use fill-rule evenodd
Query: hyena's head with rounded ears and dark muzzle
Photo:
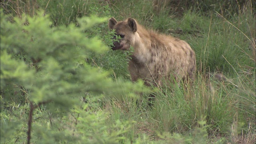
M 116 36 L 121 39 L 114 41 L 112 50 L 129 50 L 130 46 L 134 46 L 135 33 L 137 31 L 137 22 L 132 18 L 128 18 L 122 22 L 117 22 L 115 18 L 110 18 L 108 21 L 108 28 L 115 30 Z M 116 36 L 113 37 L 116 40 Z

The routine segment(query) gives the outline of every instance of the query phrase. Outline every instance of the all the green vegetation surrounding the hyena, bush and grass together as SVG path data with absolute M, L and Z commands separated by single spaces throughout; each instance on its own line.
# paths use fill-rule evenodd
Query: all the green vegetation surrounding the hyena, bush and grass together
M 254 0 L 0 4 L 1 144 L 255 144 Z M 132 84 L 129 52 L 109 47 L 110 17 L 187 41 L 196 52 L 193 86 Z

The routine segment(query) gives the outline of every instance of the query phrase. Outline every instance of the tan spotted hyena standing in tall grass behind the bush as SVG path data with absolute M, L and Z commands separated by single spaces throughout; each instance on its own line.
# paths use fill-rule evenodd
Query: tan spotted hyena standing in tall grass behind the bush
M 112 50 L 134 48 L 128 64 L 133 82 L 142 79 L 147 86 L 161 86 L 164 80 L 194 79 L 195 52 L 184 40 L 146 30 L 133 18 L 121 22 L 110 18 L 108 27 L 121 38 Z

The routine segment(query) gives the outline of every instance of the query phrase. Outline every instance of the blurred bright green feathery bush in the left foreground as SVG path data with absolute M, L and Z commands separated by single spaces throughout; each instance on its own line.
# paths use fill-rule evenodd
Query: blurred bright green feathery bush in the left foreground
M 14 22 L 1 12 L 1 143 L 24 142 L 26 131 L 32 132 L 32 143 L 125 139 L 122 134 L 132 121 L 116 120 L 102 127 L 108 112 L 94 114 L 92 109 L 102 98 L 135 96 L 142 86 L 114 82 L 108 72 L 88 64 L 90 53 L 108 49 L 96 36 L 87 36 L 95 24 L 106 20 L 90 16 L 78 19 L 79 27 L 50 28 L 49 17 L 42 12 L 15 17 Z

